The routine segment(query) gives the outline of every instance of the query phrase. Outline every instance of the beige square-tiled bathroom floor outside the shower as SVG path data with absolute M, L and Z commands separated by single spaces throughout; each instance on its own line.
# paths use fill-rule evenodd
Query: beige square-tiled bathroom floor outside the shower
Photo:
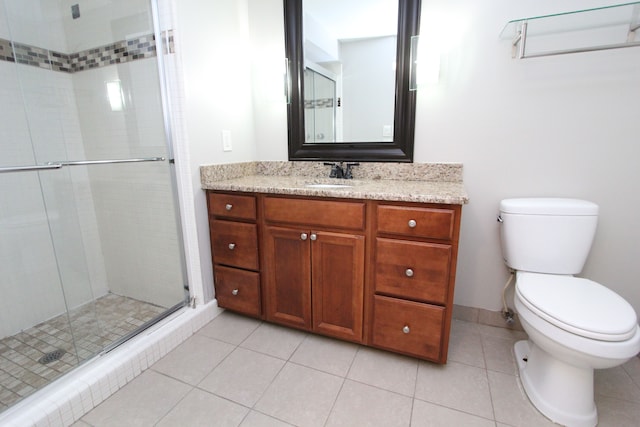
M 523 337 L 454 321 L 441 366 L 224 312 L 75 426 L 553 425 L 519 386 Z M 596 394 L 600 426 L 637 426 L 640 359 Z

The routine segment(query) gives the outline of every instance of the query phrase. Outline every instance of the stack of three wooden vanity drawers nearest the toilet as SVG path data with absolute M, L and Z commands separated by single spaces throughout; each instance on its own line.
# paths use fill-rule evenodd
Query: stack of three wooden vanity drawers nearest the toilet
M 371 345 L 445 363 L 458 205 L 375 205 Z

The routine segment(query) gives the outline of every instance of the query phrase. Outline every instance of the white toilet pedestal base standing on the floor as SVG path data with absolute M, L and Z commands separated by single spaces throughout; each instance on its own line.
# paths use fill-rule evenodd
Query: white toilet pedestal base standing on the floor
M 551 421 L 570 427 L 593 427 L 593 369 L 558 360 L 532 341 L 514 345 L 520 380 L 531 403 Z

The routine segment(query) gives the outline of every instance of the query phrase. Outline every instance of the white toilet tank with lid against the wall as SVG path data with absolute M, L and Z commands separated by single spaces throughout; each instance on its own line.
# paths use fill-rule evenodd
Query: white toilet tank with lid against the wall
M 510 268 L 578 274 L 596 233 L 598 205 L 576 199 L 505 199 L 498 220 L 502 255 Z

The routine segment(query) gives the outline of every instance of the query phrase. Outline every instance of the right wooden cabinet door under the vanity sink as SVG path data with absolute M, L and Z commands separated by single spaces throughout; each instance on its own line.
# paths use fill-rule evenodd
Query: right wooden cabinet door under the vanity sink
M 364 236 L 311 233 L 313 330 L 362 342 Z

